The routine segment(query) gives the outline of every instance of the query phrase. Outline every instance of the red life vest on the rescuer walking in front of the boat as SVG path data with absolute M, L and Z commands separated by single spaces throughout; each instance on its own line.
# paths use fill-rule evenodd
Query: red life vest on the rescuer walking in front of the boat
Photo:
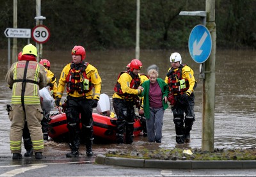
M 66 77 L 67 93 L 77 91 L 79 94 L 82 94 L 91 91 L 93 88 L 92 79 L 88 79 L 85 72 L 89 63 L 83 61 L 81 64 L 78 67 L 75 67 L 73 62 L 70 64 L 70 70 Z

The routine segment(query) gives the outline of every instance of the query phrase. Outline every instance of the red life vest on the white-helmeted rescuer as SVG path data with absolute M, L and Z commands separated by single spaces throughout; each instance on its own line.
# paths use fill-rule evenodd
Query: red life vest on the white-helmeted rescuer
M 189 89 L 188 79 L 182 78 L 182 68 L 184 66 L 180 65 L 175 72 L 171 68 L 170 72 L 167 73 L 168 85 L 174 95 L 182 95 Z

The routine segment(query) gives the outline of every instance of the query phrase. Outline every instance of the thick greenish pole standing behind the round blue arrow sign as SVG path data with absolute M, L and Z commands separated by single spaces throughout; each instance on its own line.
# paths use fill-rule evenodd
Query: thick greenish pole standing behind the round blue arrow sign
M 214 111 L 215 111 L 215 63 L 216 63 L 216 24 L 215 0 L 205 0 L 206 27 L 212 38 L 212 50 L 205 61 L 203 84 L 202 151 L 214 151 Z

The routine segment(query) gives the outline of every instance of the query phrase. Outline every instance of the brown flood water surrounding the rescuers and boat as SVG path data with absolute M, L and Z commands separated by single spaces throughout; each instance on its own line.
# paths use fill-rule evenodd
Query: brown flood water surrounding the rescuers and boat
M 70 49 L 71 51 L 71 49 Z M 51 61 L 51 71 L 60 78 L 60 72 L 71 61 L 70 51 L 44 51 L 44 58 Z M 5 110 L 10 103 L 12 91 L 6 87 L 4 77 L 7 68 L 7 50 L 0 50 L 0 157 L 10 156 L 10 121 Z M 175 143 L 175 127 L 170 108 L 164 112 L 163 139 L 161 144 L 148 143 L 145 137 L 135 137 L 134 144 L 116 146 L 116 144 L 93 144 L 95 153 L 118 148 L 201 148 L 202 146 L 202 85 L 199 79 L 199 64 L 195 63 L 186 51 L 141 50 L 143 63 L 141 73 L 147 73 L 147 67 L 156 64 L 159 77 L 164 79 L 170 67 L 171 52 L 180 52 L 182 63 L 186 63 L 195 72 L 198 82 L 195 90 L 196 121 L 191 130 L 191 142 L 183 146 Z M 87 51 L 86 61 L 99 70 L 102 78 L 102 93 L 113 95 L 118 73 L 125 70 L 127 63 L 134 58 L 133 50 Z M 216 95 L 214 117 L 214 148 L 250 148 L 256 146 L 256 52 L 254 50 L 221 50 L 216 53 Z M 63 101 L 64 99 L 62 99 Z M 80 151 L 84 151 L 81 146 Z M 67 144 L 49 141 L 45 143 L 45 154 L 60 156 L 69 151 Z M 24 150 L 22 150 L 24 153 Z M 64 157 L 65 155 L 63 155 Z

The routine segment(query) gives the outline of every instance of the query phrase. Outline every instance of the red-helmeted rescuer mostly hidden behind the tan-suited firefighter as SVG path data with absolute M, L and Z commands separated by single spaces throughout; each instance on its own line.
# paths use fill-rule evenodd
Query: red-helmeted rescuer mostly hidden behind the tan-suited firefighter
M 57 84 L 57 79 L 54 73 L 52 73 L 50 70 L 51 63 L 48 59 L 41 59 L 39 63 L 44 66 L 46 77 L 47 77 L 47 85 L 50 87 L 50 91 L 52 91 L 53 98 L 56 98 L 58 84 Z M 49 122 L 50 112 L 46 111 L 44 108 L 43 108 L 43 112 L 44 112 L 44 118 L 41 121 L 41 125 L 42 125 L 43 134 L 44 134 L 44 140 L 47 141 L 48 127 L 49 127 L 48 122 Z

